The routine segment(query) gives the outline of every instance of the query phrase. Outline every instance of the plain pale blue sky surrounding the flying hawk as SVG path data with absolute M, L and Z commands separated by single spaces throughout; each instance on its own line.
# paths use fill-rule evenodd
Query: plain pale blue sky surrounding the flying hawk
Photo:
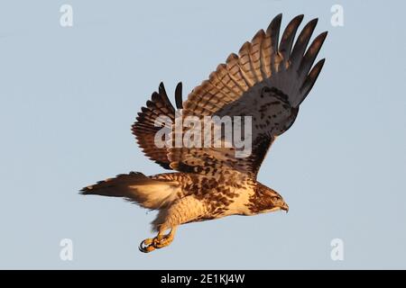
M 130 132 L 140 107 L 161 81 L 188 94 L 279 13 L 283 27 L 305 14 L 329 31 L 318 82 L 258 177 L 289 213 L 188 224 L 140 253 L 155 213 L 78 190 L 162 173 Z M 405 13 L 401 1 L 2 1 L 0 268 L 406 268 Z

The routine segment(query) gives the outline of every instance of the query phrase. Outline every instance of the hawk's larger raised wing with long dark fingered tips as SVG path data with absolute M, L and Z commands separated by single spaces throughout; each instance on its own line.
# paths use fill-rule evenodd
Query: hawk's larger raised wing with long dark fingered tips
M 327 32 L 308 48 L 317 19 L 306 24 L 294 42 L 302 19 L 299 15 L 291 20 L 280 41 L 281 14 L 276 16 L 266 32 L 258 31 L 245 42 L 238 55 L 231 54 L 183 103 L 184 118 L 251 116 L 251 155 L 235 157 L 235 148 L 174 147 L 168 154 L 172 168 L 197 173 L 233 169 L 256 176 L 272 141 L 295 121 L 324 64 L 322 59 L 313 67 Z

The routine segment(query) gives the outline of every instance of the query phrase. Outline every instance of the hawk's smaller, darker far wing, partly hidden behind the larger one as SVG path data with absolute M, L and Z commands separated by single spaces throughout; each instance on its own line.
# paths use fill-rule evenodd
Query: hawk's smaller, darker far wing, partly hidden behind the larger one
M 178 109 L 182 108 L 181 90 L 182 85 L 179 83 L 175 89 L 175 102 Z M 156 133 L 162 128 L 155 126 L 155 121 L 161 116 L 168 117 L 172 122 L 175 120 L 175 108 L 166 94 L 163 83 L 160 84 L 158 92 L 152 93 L 151 100 L 147 101 L 146 107 L 142 107 L 141 112 L 138 112 L 132 131 L 146 157 L 165 169 L 171 169 L 167 149 L 165 147 L 159 148 L 154 141 Z M 171 127 L 168 129 L 171 130 Z

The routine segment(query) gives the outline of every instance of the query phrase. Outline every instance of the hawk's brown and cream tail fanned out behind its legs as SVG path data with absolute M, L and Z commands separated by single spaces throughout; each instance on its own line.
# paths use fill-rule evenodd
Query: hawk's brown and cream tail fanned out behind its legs
M 161 181 L 138 172 L 117 175 L 80 190 L 84 195 L 123 197 L 148 209 L 160 209 L 176 199 L 179 183 Z

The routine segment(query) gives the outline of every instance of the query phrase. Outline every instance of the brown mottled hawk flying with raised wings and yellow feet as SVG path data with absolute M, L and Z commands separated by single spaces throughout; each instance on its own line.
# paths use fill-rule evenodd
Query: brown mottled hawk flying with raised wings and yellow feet
M 313 66 L 328 32 L 319 34 L 309 45 L 318 23 L 318 19 L 313 19 L 295 40 L 302 20 L 303 15 L 294 17 L 280 39 L 281 14 L 277 15 L 266 31 L 258 31 L 238 54 L 226 58 L 226 63 L 193 89 L 184 102 L 181 83 L 178 84 L 176 109 L 161 83 L 158 92 L 138 113 L 132 130 L 146 157 L 177 172 L 159 175 L 131 172 L 81 190 L 82 194 L 124 197 L 158 211 L 152 221 L 152 230 L 158 234 L 141 242 L 142 252 L 170 245 L 181 224 L 289 210 L 281 194 L 258 182 L 257 175 L 273 141 L 296 120 L 300 103 L 309 94 L 325 62 L 323 58 Z M 251 153 L 236 157 L 235 147 L 156 145 L 156 134 L 162 129 L 156 125 L 158 117 L 164 115 L 176 122 L 178 110 L 182 119 L 250 116 Z M 188 130 L 175 131 L 173 122 L 165 125 L 171 136 L 184 135 Z M 224 137 L 221 139 L 224 142 Z

